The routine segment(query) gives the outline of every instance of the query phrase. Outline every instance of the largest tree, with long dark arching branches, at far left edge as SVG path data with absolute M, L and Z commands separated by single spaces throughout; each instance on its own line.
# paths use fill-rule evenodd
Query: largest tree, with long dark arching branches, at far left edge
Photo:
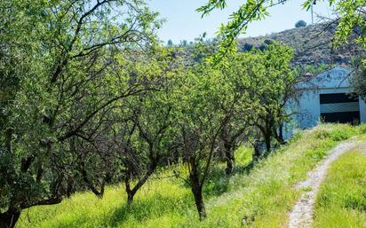
M 100 123 L 151 89 L 115 74 L 117 55 L 154 44 L 160 22 L 140 1 L 7 0 L 0 11 L 0 227 L 13 227 L 22 209 L 77 188 L 102 195 Z

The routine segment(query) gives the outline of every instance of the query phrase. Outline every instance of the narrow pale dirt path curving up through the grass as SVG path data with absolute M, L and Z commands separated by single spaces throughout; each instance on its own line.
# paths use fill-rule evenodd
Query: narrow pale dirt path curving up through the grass
M 307 174 L 307 179 L 296 185 L 297 189 L 306 188 L 289 215 L 289 228 L 310 228 L 313 222 L 314 202 L 319 186 L 327 174 L 330 163 L 336 161 L 342 153 L 346 153 L 358 145 L 354 139 L 349 139 L 337 145 L 330 151 L 321 163 Z

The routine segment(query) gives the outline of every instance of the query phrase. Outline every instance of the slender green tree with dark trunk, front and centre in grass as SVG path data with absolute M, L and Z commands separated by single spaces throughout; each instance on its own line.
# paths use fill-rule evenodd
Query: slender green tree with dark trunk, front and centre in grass
M 183 178 L 194 195 L 200 220 L 206 217 L 203 185 L 219 150 L 219 134 L 234 114 L 237 97 L 229 91 L 220 71 L 201 63 L 187 69 L 174 93 L 178 106 L 174 112 L 175 138 L 188 170 L 188 177 Z

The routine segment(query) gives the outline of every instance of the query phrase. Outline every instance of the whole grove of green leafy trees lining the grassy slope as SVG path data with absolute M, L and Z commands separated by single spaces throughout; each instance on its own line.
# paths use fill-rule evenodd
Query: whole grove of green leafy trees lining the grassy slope
M 0 15 L 0 228 L 117 182 L 133 203 L 157 168 L 179 162 L 204 219 L 217 162 L 231 175 L 241 143 L 266 146 L 257 160 L 284 143 L 300 79 L 289 47 L 212 65 L 207 43 L 192 55 L 161 46 L 158 14 L 135 0 L 5 0 Z

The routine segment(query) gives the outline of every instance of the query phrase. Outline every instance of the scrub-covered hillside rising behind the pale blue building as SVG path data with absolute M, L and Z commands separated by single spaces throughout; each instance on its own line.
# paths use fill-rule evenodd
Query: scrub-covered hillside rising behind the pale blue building
M 332 50 L 330 42 L 335 26 L 315 24 L 302 28 L 292 28 L 271 35 L 261 35 L 239 39 L 239 50 L 259 47 L 266 40 L 275 40 L 287 44 L 295 50 L 294 64 L 338 64 L 349 65 L 352 57 L 359 55 L 362 50 L 354 43 L 344 43 L 338 50 Z

